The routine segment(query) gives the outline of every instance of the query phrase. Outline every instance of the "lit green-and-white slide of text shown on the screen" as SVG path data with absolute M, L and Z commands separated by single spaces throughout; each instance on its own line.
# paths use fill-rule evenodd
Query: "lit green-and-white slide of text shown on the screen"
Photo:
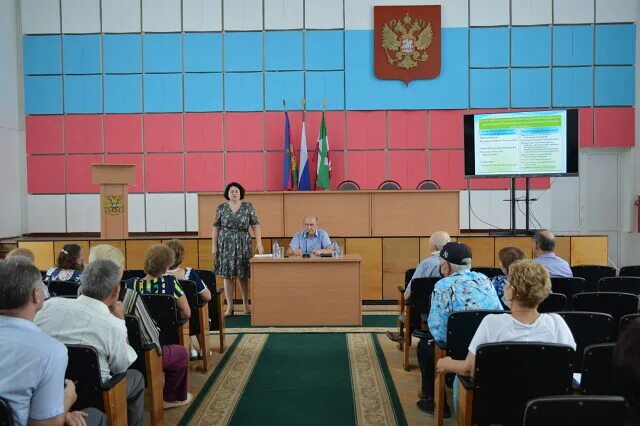
M 474 115 L 475 175 L 567 173 L 567 111 Z

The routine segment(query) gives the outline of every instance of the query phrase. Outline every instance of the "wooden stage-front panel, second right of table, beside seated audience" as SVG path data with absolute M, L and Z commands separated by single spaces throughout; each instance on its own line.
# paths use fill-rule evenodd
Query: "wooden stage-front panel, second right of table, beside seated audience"
M 420 256 L 418 238 L 383 238 L 382 298 L 397 300 L 399 285 L 404 285 L 407 269 L 415 268 Z

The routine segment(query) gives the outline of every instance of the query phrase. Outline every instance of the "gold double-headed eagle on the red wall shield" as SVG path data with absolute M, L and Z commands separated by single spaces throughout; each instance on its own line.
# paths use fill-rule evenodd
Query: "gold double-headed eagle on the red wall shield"
M 389 65 L 405 70 L 415 68 L 420 62 L 429 59 L 425 50 L 431 46 L 432 41 L 431 22 L 413 20 L 408 13 L 402 20 L 392 19 L 382 28 L 381 46 L 387 54 Z

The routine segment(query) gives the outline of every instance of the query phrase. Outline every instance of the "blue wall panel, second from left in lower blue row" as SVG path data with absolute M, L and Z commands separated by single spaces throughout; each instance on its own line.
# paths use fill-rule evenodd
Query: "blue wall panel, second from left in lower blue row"
M 66 75 L 64 77 L 64 112 L 98 114 L 102 112 L 102 76 Z

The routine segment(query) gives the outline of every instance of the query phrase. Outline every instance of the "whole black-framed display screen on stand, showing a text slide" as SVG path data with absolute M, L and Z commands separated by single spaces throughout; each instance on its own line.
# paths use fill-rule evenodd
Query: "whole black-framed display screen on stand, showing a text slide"
M 464 116 L 466 177 L 576 176 L 578 111 Z

